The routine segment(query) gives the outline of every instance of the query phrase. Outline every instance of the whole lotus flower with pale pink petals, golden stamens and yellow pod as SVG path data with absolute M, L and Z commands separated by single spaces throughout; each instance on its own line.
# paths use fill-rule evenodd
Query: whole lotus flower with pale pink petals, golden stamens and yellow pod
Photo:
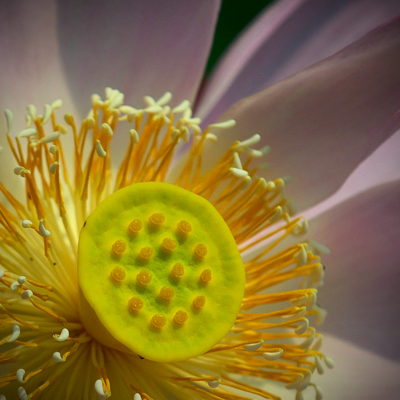
M 0 399 L 107 398 L 111 390 L 111 398 L 134 400 L 294 395 L 301 399 L 322 398 L 321 386 L 326 398 L 396 397 L 398 272 L 392 254 L 400 226 L 394 134 L 400 108 L 400 22 L 386 21 L 400 13 L 400 7 L 395 1 L 279 1 L 260 14 L 201 82 L 218 10 L 214 0 L 114 1 L 101 6 L 97 1 L 40 1 L 2 7 L 1 106 L 12 109 L 14 118 L 6 111 L 0 137 L 0 359 L 5 371 Z M 103 87 L 105 100 L 91 96 Z M 166 105 L 169 92 L 172 108 Z M 146 104 L 141 105 L 144 95 Z M 67 111 L 67 126 L 60 122 L 58 98 L 63 100 L 63 113 Z M 191 116 L 185 99 L 194 103 L 193 112 L 202 123 Z M 28 107 L 26 128 L 23 107 L 47 102 L 41 116 L 34 106 Z M 79 118 L 82 125 L 77 131 Z M 213 124 L 215 120 L 220 122 Z M 127 143 L 123 123 L 131 124 Z M 46 131 L 41 130 L 44 125 Z M 66 131 L 75 139 L 73 145 L 62 145 L 60 134 Z M 93 141 L 86 135 L 89 131 Z M 9 132 L 19 132 L 18 140 L 9 143 L 13 151 L 6 148 Z M 165 138 L 158 145 L 159 132 Z M 26 149 L 21 136 L 27 137 Z M 271 146 L 271 168 L 266 171 L 255 162 L 267 152 L 265 144 Z M 169 151 L 175 145 L 172 157 Z M 135 167 L 135 162 L 140 165 Z M 288 174 L 286 185 L 288 179 L 279 176 Z M 226 178 L 228 186 L 220 185 Z M 186 189 L 187 203 L 194 205 L 185 212 L 204 209 L 200 225 L 211 221 L 207 232 L 218 240 L 203 236 L 195 245 L 191 229 L 194 233 L 201 226 L 190 224 L 188 218 L 179 220 L 175 236 L 162 240 L 156 254 L 162 259 L 173 258 L 177 246 L 192 243 L 190 259 L 201 271 L 198 293 L 187 309 L 173 311 L 173 320 L 161 311 L 154 313 L 145 327 L 147 335 L 163 338 L 165 332 L 192 326 L 190 318 L 202 318 L 206 301 L 219 301 L 207 289 L 218 275 L 201 266 L 212 249 L 231 249 L 236 277 L 226 285 L 227 291 L 234 288 L 232 303 L 220 301 L 220 321 L 212 327 L 209 318 L 198 319 L 199 326 L 208 328 L 205 339 L 199 340 L 194 329 L 194 341 L 184 350 L 173 344 L 175 353 L 169 350 L 167 355 L 153 347 L 157 340 L 132 343 L 123 336 L 125 326 L 120 322 L 126 315 L 138 320 L 145 302 L 153 301 L 142 293 L 151 281 L 151 268 L 145 266 L 155 257 L 154 248 L 139 243 L 137 293 L 125 305 L 124 317 L 112 319 L 107 307 L 126 276 L 125 264 L 118 260 L 127 251 L 128 239 L 107 241 L 103 234 L 114 229 L 104 215 L 112 215 L 116 226 L 126 196 L 141 198 L 144 191 L 153 193 L 154 201 L 157 196 L 184 196 L 171 192 L 171 185 L 164 186 L 162 180 Z M 144 183 L 129 186 L 133 182 Z M 114 186 L 120 190 L 107 197 Z M 295 214 L 283 186 L 309 220 L 304 238 L 298 235 L 307 225 Z M 203 197 L 213 202 L 223 219 L 213 213 L 215 209 L 202 208 Z M 259 208 L 258 200 L 267 200 L 266 210 Z M 150 212 L 144 222 L 128 221 L 124 235 L 130 236 L 123 237 L 139 240 L 145 229 L 156 235 L 170 218 L 168 212 L 165 208 Z M 106 223 L 107 229 L 102 229 Z M 229 234 L 247 268 L 243 309 L 265 304 L 268 298 L 288 300 L 287 308 L 268 304 L 261 315 L 243 309 L 232 314 L 241 301 L 244 281 Z M 286 243 L 280 247 L 282 238 Z M 323 275 L 317 254 L 326 252 L 325 246 L 331 252 L 322 258 L 326 287 L 318 288 L 318 304 L 329 317 L 322 325 L 321 353 L 321 336 L 308 327 L 304 312 L 307 317 L 324 314 L 314 304 L 313 286 Z M 266 255 L 265 248 L 272 251 Z M 107 279 L 101 280 L 101 268 L 93 275 L 93 257 L 95 265 L 106 265 L 102 259 L 112 257 Z M 159 289 L 151 306 L 168 309 L 169 302 L 181 296 L 177 282 L 185 271 L 178 262 L 171 267 L 172 283 Z M 293 278 L 301 276 L 306 278 L 302 286 L 293 286 Z M 282 285 L 280 289 L 272 286 L 275 283 Z M 254 294 L 270 286 L 272 291 Z M 104 287 L 110 292 L 116 288 L 106 301 Z M 233 330 L 223 337 L 229 323 Z M 266 333 L 253 334 L 262 328 Z M 222 341 L 216 344 L 221 332 Z M 201 347 L 207 340 L 215 343 Z M 140 348 L 145 356 L 138 357 L 140 352 L 132 348 Z M 183 354 L 186 349 L 192 351 L 190 356 Z M 313 374 L 310 380 L 312 371 L 323 372 L 323 360 L 331 366 L 325 354 L 333 355 L 336 367 Z M 312 387 L 307 387 L 310 381 Z M 240 395 L 229 394 L 235 389 Z

